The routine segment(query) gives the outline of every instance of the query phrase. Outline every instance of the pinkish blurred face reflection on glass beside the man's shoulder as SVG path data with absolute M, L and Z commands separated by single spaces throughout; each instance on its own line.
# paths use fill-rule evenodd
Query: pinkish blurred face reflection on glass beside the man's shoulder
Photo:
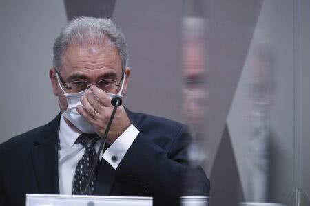
M 189 160 L 192 167 L 207 159 L 207 66 L 205 49 L 206 21 L 203 17 L 203 1 L 185 1 L 183 17 L 183 115 L 189 126 L 192 141 L 189 144 Z M 195 174 L 186 174 L 185 190 L 199 194 Z

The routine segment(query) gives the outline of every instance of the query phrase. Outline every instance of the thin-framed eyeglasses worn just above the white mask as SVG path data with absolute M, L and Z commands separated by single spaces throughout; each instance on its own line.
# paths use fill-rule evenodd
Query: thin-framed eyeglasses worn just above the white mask
M 57 76 L 59 77 L 59 80 L 63 84 L 63 87 L 65 87 L 66 89 L 70 89 L 70 93 L 77 93 L 84 91 L 90 88 L 90 86 L 92 85 L 96 85 L 96 87 L 102 89 L 106 93 L 115 93 L 116 87 L 119 87 L 121 84 L 121 82 L 117 84 L 115 79 L 99 80 L 99 82 L 97 82 L 96 84 L 90 84 L 90 82 L 87 82 L 85 80 L 72 81 L 66 84 L 63 78 L 61 78 L 61 76 L 59 75 L 59 73 L 57 73 Z

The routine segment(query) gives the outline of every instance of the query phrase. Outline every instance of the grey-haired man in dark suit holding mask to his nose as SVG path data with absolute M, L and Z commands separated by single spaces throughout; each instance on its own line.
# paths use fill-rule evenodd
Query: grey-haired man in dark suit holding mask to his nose
M 111 99 L 127 93 L 125 38 L 110 19 L 74 19 L 56 38 L 53 64 L 50 80 L 61 114 L 0 145 L 0 205 L 25 205 L 27 193 L 161 199 L 209 194 L 203 170 L 189 167 L 185 126 L 123 106 L 86 188 Z M 181 190 L 189 169 L 201 179 L 198 190 Z

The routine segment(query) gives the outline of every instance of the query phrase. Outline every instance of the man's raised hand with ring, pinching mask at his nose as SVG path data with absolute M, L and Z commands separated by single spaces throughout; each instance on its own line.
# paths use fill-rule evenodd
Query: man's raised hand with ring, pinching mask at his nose
M 87 119 L 96 133 L 102 138 L 107 123 L 112 115 L 114 106 L 111 104 L 112 97 L 107 95 L 98 87 L 91 86 L 90 91 L 81 98 L 83 106 L 77 106 L 78 111 L 85 119 Z M 96 111 L 96 115 L 92 113 Z M 116 110 L 109 134 L 107 135 L 107 144 L 112 144 L 127 128 L 130 126 L 130 119 L 127 116 L 125 108 L 119 106 Z

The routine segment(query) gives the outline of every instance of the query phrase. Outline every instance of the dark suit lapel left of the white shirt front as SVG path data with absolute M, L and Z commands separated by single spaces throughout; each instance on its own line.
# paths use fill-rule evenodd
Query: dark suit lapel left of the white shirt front
M 58 128 L 61 115 L 44 126 L 32 149 L 34 174 L 37 178 L 38 192 L 59 194 L 58 177 Z

